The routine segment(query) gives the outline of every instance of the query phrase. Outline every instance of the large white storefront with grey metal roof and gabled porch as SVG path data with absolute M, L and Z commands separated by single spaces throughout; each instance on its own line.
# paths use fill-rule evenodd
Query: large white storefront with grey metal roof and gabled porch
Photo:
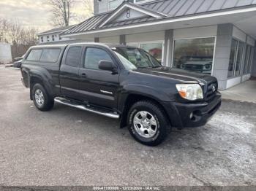
M 94 0 L 94 17 L 61 36 L 143 48 L 221 90 L 256 76 L 255 0 Z

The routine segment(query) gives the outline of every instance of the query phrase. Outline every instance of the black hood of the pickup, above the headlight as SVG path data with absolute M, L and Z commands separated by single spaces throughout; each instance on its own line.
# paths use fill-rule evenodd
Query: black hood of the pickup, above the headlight
M 191 71 L 185 71 L 182 69 L 172 69 L 170 67 L 160 67 L 155 69 L 135 69 L 133 71 L 141 74 L 150 74 L 157 77 L 176 79 L 184 83 L 203 82 L 204 85 L 207 85 L 212 82 L 217 82 L 217 79 L 209 74 L 195 73 Z

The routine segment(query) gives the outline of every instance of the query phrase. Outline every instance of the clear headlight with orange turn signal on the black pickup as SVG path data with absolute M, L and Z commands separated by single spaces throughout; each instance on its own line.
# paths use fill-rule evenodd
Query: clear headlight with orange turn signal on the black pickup
M 188 100 L 203 99 L 202 87 L 198 84 L 176 85 L 179 95 Z

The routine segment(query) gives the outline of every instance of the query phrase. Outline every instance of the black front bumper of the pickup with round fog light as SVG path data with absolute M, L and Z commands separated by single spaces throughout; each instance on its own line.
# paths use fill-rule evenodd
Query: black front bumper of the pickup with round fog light
M 222 95 L 217 93 L 211 101 L 203 104 L 165 103 L 165 110 L 173 127 L 194 128 L 206 125 L 221 104 Z

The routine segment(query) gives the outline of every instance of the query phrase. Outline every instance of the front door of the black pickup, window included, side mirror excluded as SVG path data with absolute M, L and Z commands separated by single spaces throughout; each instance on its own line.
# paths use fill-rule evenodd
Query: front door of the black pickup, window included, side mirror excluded
M 116 64 L 110 50 L 105 47 L 86 47 L 82 59 L 79 88 L 83 101 L 109 109 L 116 108 L 119 74 L 99 69 L 99 61 L 111 61 Z

